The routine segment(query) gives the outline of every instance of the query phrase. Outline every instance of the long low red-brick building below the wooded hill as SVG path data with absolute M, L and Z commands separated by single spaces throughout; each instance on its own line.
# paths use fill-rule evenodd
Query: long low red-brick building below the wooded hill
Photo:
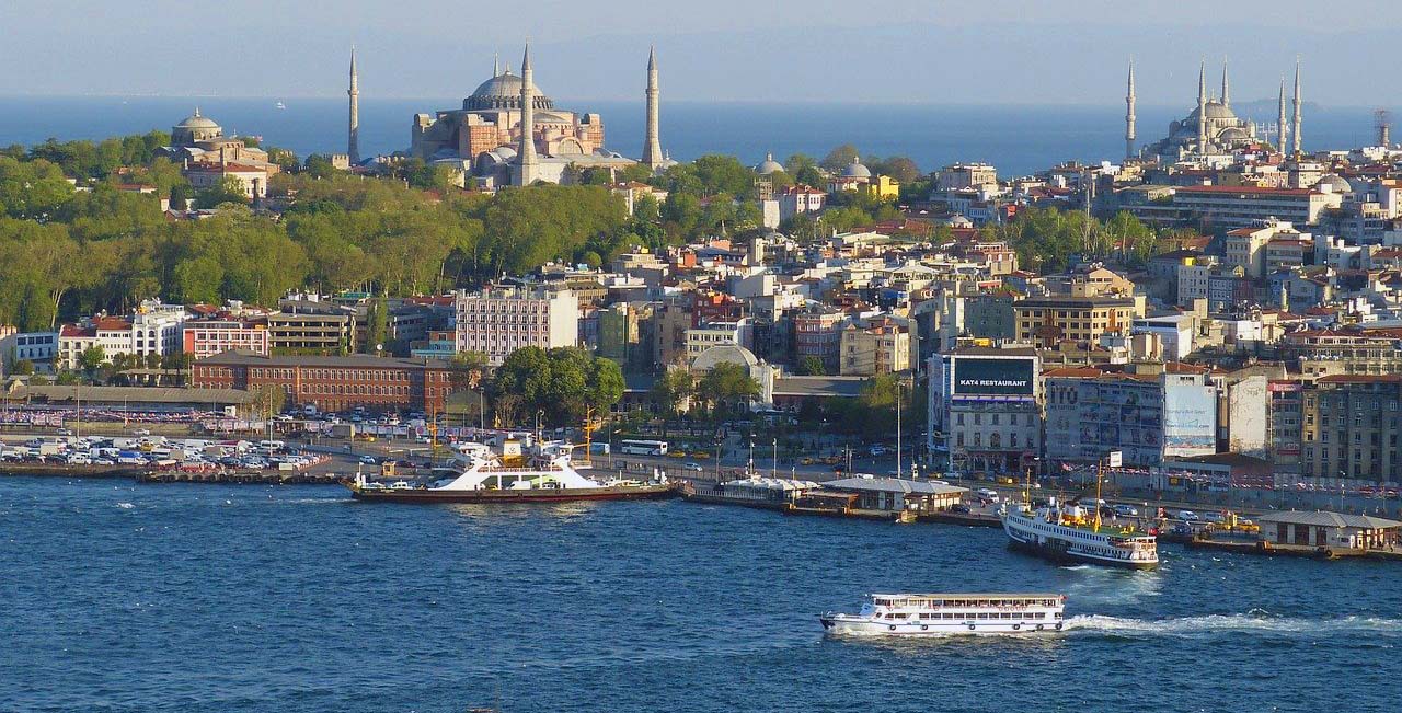
M 224 352 L 191 370 L 195 388 L 251 391 L 271 385 L 287 394 L 289 406 L 318 410 L 365 408 L 373 412 L 439 413 L 451 391 L 447 363 L 435 359 L 262 356 Z

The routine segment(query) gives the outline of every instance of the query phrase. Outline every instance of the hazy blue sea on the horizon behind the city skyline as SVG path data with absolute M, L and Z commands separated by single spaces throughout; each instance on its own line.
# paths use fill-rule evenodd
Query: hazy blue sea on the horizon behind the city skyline
M 262 136 L 299 155 L 345 151 L 346 104 L 339 98 L 171 98 L 171 97 L 0 97 L 0 146 L 48 137 L 104 139 L 170 130 L 199 105 L 227 132 Z M 1270 104 L 1270 106 L 1266 106 Z M 408 147 L 415 112 L 461 106 L 457 99 L 360 99 L 363 155 Z M 625 155 L 642 147 L 642 102 L 557 99 L 557 106 L 603 115 L 606 144 Z M 1270 120 L 1273 102 L 1251 105 Z M 1168 122 L 1190 106 L 1138 108 L 1140 143 L 1166 133 Z M 1000 174 L 1018 175 L 1068 158 L 1119 160 L 1124 153 L 1123 106 L 1033 105 L 876 105 L 876 104 L 704 104 L 663 102 L 662 146 L 673 158 L 705 153 L 739 155 L 747 164 L 773 151 L 822 158 L 852 143 L 875 155 L 904 154 L 923 169 L 952 161 L 987 161 Z M 1349 148 L 1373 141 L 1373 113 L 1364 108 L 1307 105 L 1305 148 Z

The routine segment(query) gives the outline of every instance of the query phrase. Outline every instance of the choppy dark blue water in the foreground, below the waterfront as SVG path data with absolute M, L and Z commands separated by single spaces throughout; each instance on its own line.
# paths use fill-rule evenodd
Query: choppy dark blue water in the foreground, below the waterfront
M 995 529 L 681 501 L 353 503 L 0 479 L 17 712 L 1395 710 L 1385 563 L 1164 548 L 1057 567 Z M 873 590 L 1052 590 L 1046 639 L 836 640 Z

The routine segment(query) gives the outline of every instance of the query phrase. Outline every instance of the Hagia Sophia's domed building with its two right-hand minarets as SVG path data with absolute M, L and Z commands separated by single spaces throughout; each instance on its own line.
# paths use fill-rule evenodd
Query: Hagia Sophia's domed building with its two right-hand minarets
M 530 48 L 520 74 L 508 66 L 492 67 L 492 77 L 463 99 L 461 109 L 414 115 L 409 155 L 430 164 L 447 164 L 472 176 L 482 188 L 558 184 L 571 165 L 576 168 L 625 168 L 635 160 L 604 148 L 604 123 L 597 113 L 555 106 L 536 87 Z M 658 62 L 648 57 L 648 136 L 642 162 L 653 169 L 667 160 L 658 144 Z M 531 126 L 523 140 L 523 126 Z

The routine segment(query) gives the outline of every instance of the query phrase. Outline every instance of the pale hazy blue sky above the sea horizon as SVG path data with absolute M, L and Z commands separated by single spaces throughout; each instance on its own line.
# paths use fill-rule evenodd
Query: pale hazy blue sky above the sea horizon
M 557 99 L 635 99 L 656 45 L 663 99 L 1078 104 L 1273 99 L 1298 56 L 1335 106 L 1402 92 L 1402 3 L 1319 0 L 3 0 L 0 97 L 464 97 L 492 57 Z M 3 111 L 3 99 L 0 99 Z M 861 120 L 854 116 L 854 120 Z

